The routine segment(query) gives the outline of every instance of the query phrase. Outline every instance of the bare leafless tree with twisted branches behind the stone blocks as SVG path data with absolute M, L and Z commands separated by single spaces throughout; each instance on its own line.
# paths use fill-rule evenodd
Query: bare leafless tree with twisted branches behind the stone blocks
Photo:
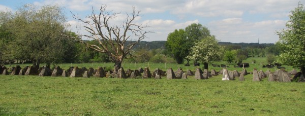
M 124 58 L 133 58 L 144 56 L 144 54 L 135 54 L 132 48 L 140 41 L 146 38 L 146 34 L 151 31 L 145 31 L 147 25 L 135 23 L 140 11 L 136 12 L 133 7 L 131 14 L 126 13 L 127 18 L 120 25 L 111 25 L 110 22 L 118 18 L 119 13 L 107 11 L 107 6 L 102 5 L 100 10 L 96 12 L 92 9 L 92 14 L 86 16 L 89 20 L 80 19 L 72 13 L 73 18 L 85 23 L 83 26 L 88 34 L 78 35 L 77 37 L 70 36 L 75 41 L 86 45 L 98 52 L 105 53 L 109 56 L 114 64 L 114 69 L 117 71 L 121 67 Z M 84 40 L 94 40 L 96 44 L 88 43 Z

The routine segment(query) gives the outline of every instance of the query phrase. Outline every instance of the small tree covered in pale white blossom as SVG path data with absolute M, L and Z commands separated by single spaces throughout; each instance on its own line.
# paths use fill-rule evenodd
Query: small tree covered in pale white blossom
M 188 58 L 203 62 L 204 69 L 208 69 L 208 63 L 221 60 L 223 51 L 215 36 L 206 36 L 191 48 Z

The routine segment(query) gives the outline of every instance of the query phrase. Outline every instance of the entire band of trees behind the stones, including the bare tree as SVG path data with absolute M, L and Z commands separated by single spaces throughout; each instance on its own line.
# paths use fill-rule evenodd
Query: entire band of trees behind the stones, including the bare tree
M 280 40 L 276 45 L 245 47 L 223 45 L 207 27 L 194 23 L 184 29 L 175 29 L 168 34 L 164 49 L 149 49 L 140 46 L 146 38 L 147 25 L 135 23 L 140 11 L 133 8 L 126 13 L 126 20 L 118 25 L 110 25 L 119 13 L 107 11 L 102 5 L 93 9 L 87 19 L 80 20 L 88 34 L 69 31 L 67 17 L 63 8 L 47 5 L 37 8 L 28 4 L 16 10 L 0 12 L 0 61 L 4 63 L 32 62 L 34 67 L 40 63 L 47 66 L 71 62 L 114 62 L 117 71 L 121 63 L 127 62 L 202 62 L 204 67 L 214 61 L 225 60 L 242 62 L 247 57 L 270 57 L 270 62 L 278 56 L 279 62 L 299 67 L 305 71 L 304 20 L 302 4 L 291 11 L 286 27 L 277 31 Z M 145 44 L 145 42 L 143 42 Z M 157 42 L 161 43 L 161 42 Z

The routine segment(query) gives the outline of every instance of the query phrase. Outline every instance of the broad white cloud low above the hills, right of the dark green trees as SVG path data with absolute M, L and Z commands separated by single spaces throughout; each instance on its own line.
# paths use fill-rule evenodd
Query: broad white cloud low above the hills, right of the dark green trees
M 217 36 L 221 42 L 232 43 L 275 43 L 278 35 L 275 31 L 285 28 L 284 20 L 266 20 L 259 22 L 244 21 L 240 18 L 228 18 L 212 21 L 208 24 L 211 34 Z

